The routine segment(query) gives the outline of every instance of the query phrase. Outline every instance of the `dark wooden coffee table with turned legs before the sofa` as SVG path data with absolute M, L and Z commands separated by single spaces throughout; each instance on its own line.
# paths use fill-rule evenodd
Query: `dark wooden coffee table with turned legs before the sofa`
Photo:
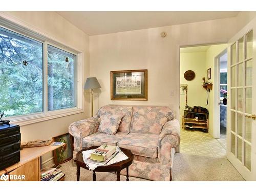
M 77 181 L 80 180 L 80 167 L 89 170 L 86 166 L 86 163 L 83 162 L 82 152 L 87 150 L 93 150 L 94 148 L 98 148 L 99 146 L 92 146 L 89 148 L 84 148 L 76 154 L 75 162 L 77 164 L 76 167 L 76 178 Z M 128 159 L 117 162 L 108 166 L 98 166 L 93 170 L 93 181 L 96 181 L 96 173 L 95 172 L 117 172 L 116 180 L 120 181 L 120 172 L 122 169 L 126 168 L 126 181 L 129 181 L 129 166 L 133 163 L 133 154 L 130 150 L 126 150 L 125 148 L 121 148 L 120 150 L 128 157 Z

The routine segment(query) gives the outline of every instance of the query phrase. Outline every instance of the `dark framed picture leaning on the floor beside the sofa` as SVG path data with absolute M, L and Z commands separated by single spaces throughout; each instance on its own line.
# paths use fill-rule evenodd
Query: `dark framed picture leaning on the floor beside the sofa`
M 65 133 L 52 138 L 53 141 L 65 142 L 66 145 L 61 146 L 53 151 L 54 164 L 59 165 L 73 158 L 73 138 L 69 133 Z

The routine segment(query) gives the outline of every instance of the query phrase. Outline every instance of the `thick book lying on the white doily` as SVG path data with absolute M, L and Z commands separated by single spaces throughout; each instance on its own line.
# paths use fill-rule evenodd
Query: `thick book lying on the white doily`
M 116 146 L 113 145 L 101 145 L 91 153 L 91 160 L 106 161 L 111 155 L 116 152 Z

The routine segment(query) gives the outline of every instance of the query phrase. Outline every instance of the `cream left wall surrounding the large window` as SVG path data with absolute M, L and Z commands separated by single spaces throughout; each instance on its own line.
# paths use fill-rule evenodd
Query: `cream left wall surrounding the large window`
M 1 12 L 0 15 L 81 51 L 84 56 L 82 63 L 84 65 L 83 77 L 86 79 L 89 76 L 89 36 L 66 19 L 55 12 Z M 22 142 L 35 139 L 51 139 L 54 136 L 68 133 L 70 123 L 89 116 L 88 96 L 84 95 L 84 98 L 86 98 L 86 102 L 84 102 L 86 112 L 84 113 L 21 126 Z M 52 153 L 43 156 L 42 162 L 51 157 Z

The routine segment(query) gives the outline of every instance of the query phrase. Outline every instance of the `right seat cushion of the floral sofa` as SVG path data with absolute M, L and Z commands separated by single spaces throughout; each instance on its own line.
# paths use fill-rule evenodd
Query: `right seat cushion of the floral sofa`
M 134 155 L 156 158 L 158 137 L 155 134 L 130 133 L 118 141 L 117 145 L 131 150 Z

